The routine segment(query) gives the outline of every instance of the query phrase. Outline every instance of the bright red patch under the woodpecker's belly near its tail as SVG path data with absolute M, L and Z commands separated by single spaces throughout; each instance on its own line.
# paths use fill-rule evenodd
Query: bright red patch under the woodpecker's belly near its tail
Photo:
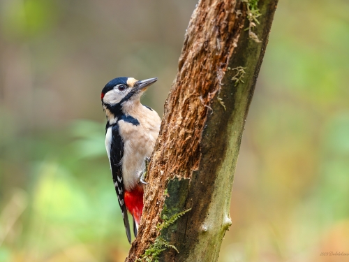
M 127 210 L 133 215 L 137 224 L 140 224 L 140 217 L 143 211 L 143 187 L 135 187 L 132 191 L 125 191 L 124 201 Z

